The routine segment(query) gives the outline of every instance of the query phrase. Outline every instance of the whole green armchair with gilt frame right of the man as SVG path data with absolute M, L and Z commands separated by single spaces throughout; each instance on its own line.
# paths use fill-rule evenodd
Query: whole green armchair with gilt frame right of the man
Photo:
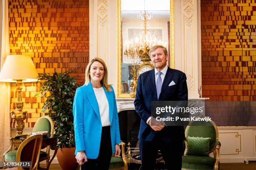
M 219 170 L 220 142 L 213 121 L 192 121 L 185 131 L 182 170 Z M 214 158 L 209 154 L 213 153 Z

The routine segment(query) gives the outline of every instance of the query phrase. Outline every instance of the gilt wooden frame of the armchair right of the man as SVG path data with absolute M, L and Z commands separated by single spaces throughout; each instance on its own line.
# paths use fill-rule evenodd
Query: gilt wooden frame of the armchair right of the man
M 209 121 L 210 123 L 212 123 L 213 127 L 215 128 L 215 133 L 216 133 L 216 143 L 215 146 L 212 148 L 212 150 L 210 150 L 210 153 L 213 153 L 214 158 L 216 159 L 215 164 L 214 164 L 214 170 L 218 170 L 219 169 L 219 162 L 220 162 L 220 145 L 218 145 L 218 143 L 220 143 L 219 141 L 219 132 L 218 132 L 218 128 L 217 125 L 215 124 L 215 122 L 213 122 L 212 120 Z M 189 126 L 192 124 L 192 122 L 189 122 L 189 124 L 187 125 L 187 128 L 185 130 L 185 145 L 186 145 L 186 149 L 184 151 L 184 156 L 187 153 L 187 130 L 189 128 Z M 187 170 L 185 168 L 182 168 L 182 170 Z

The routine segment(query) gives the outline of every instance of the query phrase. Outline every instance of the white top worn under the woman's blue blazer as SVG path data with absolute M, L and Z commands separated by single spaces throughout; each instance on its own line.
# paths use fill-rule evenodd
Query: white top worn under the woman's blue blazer
M 99 105 L 101 125 L 102 127 L 109 126 L 110 125 L 109 106 L 108 106 L 108 99 L 105 94 L 105 91 L 103 87 L 93 88 L 93 91 L 95 93 L 95 96 Z

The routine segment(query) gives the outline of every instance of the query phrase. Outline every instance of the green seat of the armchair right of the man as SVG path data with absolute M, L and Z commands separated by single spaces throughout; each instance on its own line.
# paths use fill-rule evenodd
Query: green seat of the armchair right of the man
M 213 170 L 215 158 L 207 156 L 182 156 L 182 168 L 193 170 Z

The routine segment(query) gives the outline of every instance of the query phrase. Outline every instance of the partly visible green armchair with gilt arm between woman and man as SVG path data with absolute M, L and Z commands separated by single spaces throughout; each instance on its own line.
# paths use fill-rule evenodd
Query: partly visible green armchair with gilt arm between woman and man
M 127 160 L 125 158 L 125 143 L 121 142 L 121 157 L 112 156 L 109 170 L 128 170 Z

